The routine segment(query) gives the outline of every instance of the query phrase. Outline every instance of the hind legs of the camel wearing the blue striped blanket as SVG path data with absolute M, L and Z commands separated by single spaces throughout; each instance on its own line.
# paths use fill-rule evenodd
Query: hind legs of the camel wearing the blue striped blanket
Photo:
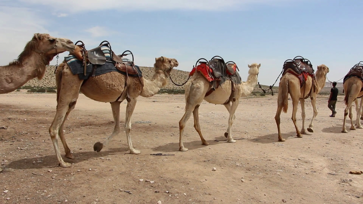
M 61 74 L 61 76 L 59 76 L 59 74 Z M 61 141 L 65 148 L 66 157 L 73 158 L 66 144 L 62 128 L 66 116 L 68 116 L 69 112 L 74 109 L 74 106 L 76 105 L 82 80 L 79 80 L 77 75 L 74 76 L 69 69 L 61 70 L 60 73 L 57 73 L 57 77 L 61 77 L 58 83 L 58 86 L 61 87 L 59 87 L 58 89 L 59 94 L 57 94 L 59 95 L 59 98 L 57 102 L 57 111 L 56 116 L 53 119 L 52 125 L 49 127 L 49 134 L 53 142 L 59 166 L 69 167 L 71 166 L 71 164 L 64 162 L 61 157 L 58 145 L 58 138 L 61 138 Z

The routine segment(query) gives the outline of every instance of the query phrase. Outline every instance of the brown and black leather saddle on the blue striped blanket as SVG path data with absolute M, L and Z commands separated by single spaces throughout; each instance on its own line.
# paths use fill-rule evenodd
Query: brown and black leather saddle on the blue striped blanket
M 77 45 L 78 42 L 81 42 L 82 44 Z M 106 43 L 103 44 L 104 42 L 106 42 Z M 70 54 L 74 54 L 74 56 L 76 56 L 78 60 L 83 62 L 83 65 L 85 67 L 84 68 L 85 75 L 86 75 L 86 66 L 88 63 L 94 65 L 93 74 L 92 74 L 92 76 L 94 76 L 94 72 L 95 72 L 95 69 L 97 69 L 97 65 L 104 65 L 106 63 L 106 61 L 112 62 L 114 64 L 115 68 L 117 68 L 121 72 L 126 73 L 127 75 L 129 75 L 129 74 L 138 75 L 138 70 L 135 68 L 135 64 L 134 64 L 134 55 L 129 50 L 126 50 L 125 52 L 123 52 L 120 55 L 116 55 L 112 51 L 110 43 L 107 41 L 102 41 L 101 44 L 99 44 L 99 46 L 97 48 L 93 48 L 90 50 L 86 50 L 85 44 L 82 41 L 77 41 L 75 45 L 76 45 L 76 49 L 74 50 L 73 53 L 70 53 Z M 102 49 L 105 49 L 105 48 L 110 50 L 110 59 L 109 60 L 107 60 L 105 53 L 102 51 Z M 129 55 L 129 54 L 125 54 L 126 52 L 130 52 L 129 54 L 132 55 L 132 61 L 127 61 L 122 58 L 123 56 Z

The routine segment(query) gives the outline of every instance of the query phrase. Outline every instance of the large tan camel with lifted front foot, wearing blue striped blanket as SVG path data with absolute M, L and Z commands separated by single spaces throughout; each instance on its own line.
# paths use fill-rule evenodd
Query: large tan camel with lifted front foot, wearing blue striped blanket
M 135 109 L 136 99 L 139 95 L 142 97 L 151 97 L 159 92 L 159 90 L 167 85 L 167 78 L 172 68 L 179 65 L 178 61 L 173 58 L 159 57 L 155 58 L 155 74 L 151 81 L 138 77 L 127 77 L 118 72 L 109 72 L 95 77 L 90 77 L 83 85 L 83 80 L 80 80 L 77 75 L 73 75 L 68 64 L 62 62 L 56 70 L 57 84 L 57 112 L 52 125 L 49 128 L 49 134 L 52 138 L 54 150 L 56 151 L 58 163 L 61 167 L 69 167 L 71 164 L 63 161 L 58 146 L 58 137 L 63 143 L 65 157 L 74 159 L 67 146 L 63 134 L 63 126 L 69 112 L 76 105 L 79 90 L 82 93 L 95 101 L 111 103 L 112 114 L 114 117 L 115 127 L 112 134 L 104 142 L 94 144 L 94 151 L 101 151 L 104 146 L 107 146 L 113 136 L 120 132 L 120 104 L 123 100 L 127 100 L 125 131 L 127 137 L 128 149 L 131 154 L 140 154 L 139 150 L 132 147 L 130 129 L 131 115 Z M 126 88 L 125 88 L 125 82 Z M 122 94 L 121 98 L 116 101 Z

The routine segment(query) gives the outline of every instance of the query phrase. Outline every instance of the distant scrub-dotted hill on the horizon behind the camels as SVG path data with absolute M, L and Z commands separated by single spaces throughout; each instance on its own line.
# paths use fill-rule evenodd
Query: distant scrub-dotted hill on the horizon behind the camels
M 55 75 L 54 75 L 54 69 L 56 69 L 56 66 L 52 65 L 52 66 L 47 66 L 46 68 L 46 72 L 44 75 L 44 78 L 42 80 L 38 80 L 37 78 L 30 80 L 28 83 L 26 83 L 24 87 L 56 87 L 56 81 L 55 81 Z M 151 77 L 154 75 L 154 68 L 152 67 L 143 67 L 140 66 L 140 69 L 142 71 L 143 77 L 146 79 L 151 79 Z M 185 82 L 185 80 L 188 79 L 189 76 L 189 72 L 186 71 L 182 71 L 182 70 L 178 70 L 178 69 L 174 69 L 171 72 L 171 77 L 173 79 L 173 81 L 177 84 L 182 84 Z M 241 76 L 242 79 L 245 79 L 244 76 Z M 341 85 L 340 85 L 341 84 Z M 164 87 L 162 90 L 160 90 L 160 93 L 184 93 L 184 86 L 176 86 L 174 85 L 170 79 L 168 79 L 168 85 L 166 87 Z M 265 86 L 265 85 L 261 85 L 263 89 L 268 89 L 269 86 Z M 339 90 L 342 90 L 342 86 L 343 83 L 338 83 L 337 87 Z M 26 88 L 28 89 L 28 88 Z M 274 86 L 273 88 L 273 92 L 277 93 L 278 92 L 278 82 L 277 82 L 277 86 Z M 325 87 L 323 88 L 323 90 L 321 91 L 321 94 L 329 94 L 330 92 L 330 82 L 326 82 Z M 339 91 L 340 93 L 342 91 Z M 256 85 L 254 87 L 254 90 L 252 92 L 253 95 L 263 95 L 263 91 L 258 87 L 258 85 Z M 271 94 L 271 91 L 267 91 L 266 94 Z

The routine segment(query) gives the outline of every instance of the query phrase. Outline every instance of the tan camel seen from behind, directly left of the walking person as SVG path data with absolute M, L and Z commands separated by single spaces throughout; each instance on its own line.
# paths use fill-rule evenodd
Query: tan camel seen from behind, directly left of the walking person
M 318 111 L 316 108 L 316 97 L 320 90 L 325 86 L 326 81 L 326 74 L 329 73 L 329 68 L 325 65 L 319 65 L 317 68 L 317 72 L 315 73 L 316 82 L 314 82 L 315 88 L 311 89 L 313 85 L 313 79 L 308 76 L 307 80 L 305 81 L 305 85 L 300 88 L 300 80 L 296 76 L 291 73 L 286 73 L 280 79 L 280 84 L 278 88 L 278 97 L 277 97 L 277 111 L 276 111 L 276 125 L 278 130 L 278 141 L 285 142 L 285 139 L 281 136 L 280 130 L 280 115 L 281 111 L 284 110 L 284 113 L 287 113 L 288 107 L 288 94 L 290 93 L 291 100 L 293 101 L 293 114 L 291 119 L 294 122 L 294 126 L 296 129 L 296 136 L 301 138 L 301 134 L 306 134 L 305 131 L 305 97 L 310 93 L 311 105 L 314 109 L 313 118 L 311 119 L 309 128 L 307 131 L 314 132 L 313 130 L 313 121 L 315 117 L 318 115 Z M 297 113 L 297 106 L 298 103 L 301 103 L 301 117 L 302 117 L 302 128 L 299 132 L 299 129 L 296 125 L 296 113 Z

